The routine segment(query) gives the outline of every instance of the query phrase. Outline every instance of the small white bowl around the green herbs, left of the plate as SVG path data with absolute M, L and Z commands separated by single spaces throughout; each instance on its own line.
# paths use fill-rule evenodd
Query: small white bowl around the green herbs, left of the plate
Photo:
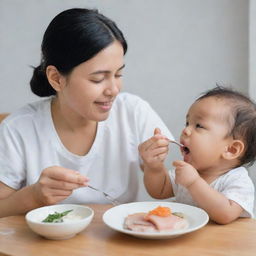
M 49 214 L 73 210 L 68 215 L 79 219 L 65 219 L 61 223 L 42 222 Z M 28 212 L 25 216 L 28 226 L 37 234 L 54 240 L 69 239 L 84 230 L 92 221 L 94 211 L 88 207 L 77 204 L 59 204 L 44 206 Z

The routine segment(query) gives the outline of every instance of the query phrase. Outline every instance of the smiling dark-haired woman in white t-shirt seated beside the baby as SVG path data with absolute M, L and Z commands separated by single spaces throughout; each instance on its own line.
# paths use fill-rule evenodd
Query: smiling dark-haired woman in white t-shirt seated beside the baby
M 30 85 L 43 100 L 28 104 L 0 128 L 0 217 L 55 203 L 136 200 L 138 145 L 159 127 L 150 106 L 121 93 L 127 43 L 96 10 L 57 15 L 42 42 Z M 20 202 L 20 203 L 19 203 Z

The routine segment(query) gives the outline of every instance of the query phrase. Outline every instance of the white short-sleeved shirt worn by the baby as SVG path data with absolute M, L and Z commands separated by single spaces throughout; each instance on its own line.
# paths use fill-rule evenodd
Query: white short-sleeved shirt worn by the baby
M 188 190 L 175 183 L 175 170 L 169 172 L 175 201 L 178 203 L 198 206 Z M 214 180 L 210 186 L 238 203 L 244 211 L 240 217 L 253 217 L 254 185 L 244 167 L 238 167 Z

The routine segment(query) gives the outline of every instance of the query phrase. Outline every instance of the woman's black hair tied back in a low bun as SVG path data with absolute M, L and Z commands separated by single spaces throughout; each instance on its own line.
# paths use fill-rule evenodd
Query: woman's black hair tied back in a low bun
M 34 68 L 30 87 L 34 94 L 45 97 L 56 91 L 46 77 L 46 67 L 55 66 L 63 75 L 119 41 L 124 54 L 127 43 L 116 24 L 97 10 L 74 8 L 58 14 L 47 27 L 42 45 L 41 64 Z

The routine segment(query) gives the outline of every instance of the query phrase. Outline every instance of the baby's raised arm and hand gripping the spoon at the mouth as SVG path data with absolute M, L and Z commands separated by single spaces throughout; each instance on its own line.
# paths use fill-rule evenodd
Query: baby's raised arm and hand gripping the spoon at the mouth
M 143 160 L 144 184 L 148 193 L 158 199 L 173 196 L 172 185 L 164 160 L 168 154 L 168 140 L 159 129 L 155 135 L 139 145 Z

